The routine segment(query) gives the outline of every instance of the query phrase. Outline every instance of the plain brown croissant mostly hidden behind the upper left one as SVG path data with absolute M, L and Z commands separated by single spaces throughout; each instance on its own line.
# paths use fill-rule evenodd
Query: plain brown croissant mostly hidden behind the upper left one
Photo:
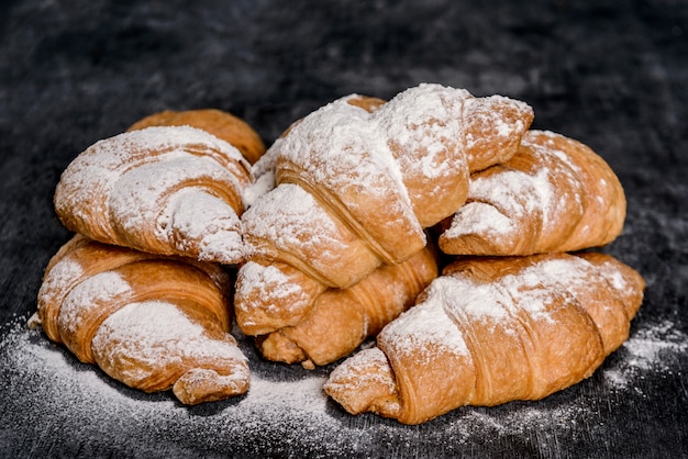
M 265 144 L 244 120 L 217 109 L 165 110 L 134 123 L 129 131 L 151 126 L 191 126 L 207 131 L 236 147 L 251 164 L 265 153 Z

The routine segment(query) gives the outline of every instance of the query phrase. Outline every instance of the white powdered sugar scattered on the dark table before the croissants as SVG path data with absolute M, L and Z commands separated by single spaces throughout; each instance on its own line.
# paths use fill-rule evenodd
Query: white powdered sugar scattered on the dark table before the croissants
M 575 444 L 590 426 L 637 416 L 634 403 L 664 400 L 651 381 L 684 378 L 688 336 L 669 321 L 640 322 L 599 370 L 601 378 L 541 402 L 464 407 L 413 427 L 351 416 L 322 393 L 326 369 L 289 372 L 262 361 L 251 342 L 240 345 L 252 359 L 248 393 L 185 407 L 170 394 L 144 394 L 112 381 L 18 320 L 4 326 L 0 342 L 5 448 L 14 457 L 26 456 L 31 445 L 66 456 L 80 449 L 137 457 L 389 457 L 402 447 L 422 457 L 429 441 L 446 456 L 488 455 L 503 452 L 515 436 L 552 451 L 553 441 Z

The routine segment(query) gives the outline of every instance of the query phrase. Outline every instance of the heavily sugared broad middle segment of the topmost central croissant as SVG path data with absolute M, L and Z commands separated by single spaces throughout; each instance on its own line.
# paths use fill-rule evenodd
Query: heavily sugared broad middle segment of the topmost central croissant
M 328 194 L 341 200 L 378 244 L 385 244 L 382 235 L 422 235 L 400 166 L 385 132 L 371 122 L 385 107 L 370 114 L 334 101 L 293 126 L 280 146 L 281 157 L 298 168 L 297 182 L 317 187 L 324 202 Z M 370 209 L 384 211 L 386 219 L 371 219 Z

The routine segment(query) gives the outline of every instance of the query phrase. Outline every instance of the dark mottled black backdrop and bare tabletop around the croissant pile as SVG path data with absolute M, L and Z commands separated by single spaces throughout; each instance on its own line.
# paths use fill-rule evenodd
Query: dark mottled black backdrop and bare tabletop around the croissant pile
M 69 237 L 52 204 L 59 173 L 90 144 L 144 115 L 218 108 L 246 120 L 269 144 L 292 121 L 352 92 L 390 98 L 429 81 L 476 96 L 500 93 L 533 107 L 533 127 L 588 144 L 617 171 L 629 213 L 624 233 L 606 250 L 647 281 L 632 338 L 669 324 L 666 336 L 680 351 L 612 401 L 600 373 L 630 358 L 623 348 L 591 379 L 539 402 L 582 399 L 600 406 L 595 419 L 578 419 L 579 428 L 541 426 L 501 437 L 492 432 L 491 441 L 475 432 L 457 441 L 450 427 L 460 422 L 460 410 L 407 430 L 366 415 L 345 422 L 367 429 L 371 440 L 341 450 L 374 457 L 432 456 L 432 448 L 440 456 L 688 457 L 687 64 L 688 2 L 678 0 L 5 0 L 0 325 L 35 311 L 43 270 Z M 1 329 L 10 334 L 9 326 Z M 16 402 L 25 390 L 12 381 L 11 390 L 0 388 L 0 456 L 156 456 L 138 448 L 146 443 L 143 434 L 40 435 L 40 422 L 22 419 L 49 419 L 51 413 L 27 414 Z M 480 413 L 499 418 L 521 408 L 514 403 Z M 210 413 L 201 412 L 207 418 Z M 543 444 L 536 429 L 558 440 Z M 179 455 L 325 450 L 299 437 L 281 446 L 279 438 L 270 446 L 269 439 L 195 438 Z M 166 440 L 158 438 L 160 445 Z M 176 450 L 157 452 L 170 457 Z

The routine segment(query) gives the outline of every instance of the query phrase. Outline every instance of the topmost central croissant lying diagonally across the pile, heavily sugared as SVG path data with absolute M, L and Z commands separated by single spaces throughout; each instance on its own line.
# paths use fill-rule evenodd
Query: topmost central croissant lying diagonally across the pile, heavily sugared
M 381 105 L 356 100 L 290 127 L 276 188 L 242 216 L 249 254 L 235 306 L 246 312 L 246 334 L 295 325 L 328 288 L 346 289 L 421 250 L 424 228 L 464 203 L 469 171 L 512 156 L 533 117 L 523 102 L 439 85 Z M 275 321 L 263 324 L 266 315 Z

